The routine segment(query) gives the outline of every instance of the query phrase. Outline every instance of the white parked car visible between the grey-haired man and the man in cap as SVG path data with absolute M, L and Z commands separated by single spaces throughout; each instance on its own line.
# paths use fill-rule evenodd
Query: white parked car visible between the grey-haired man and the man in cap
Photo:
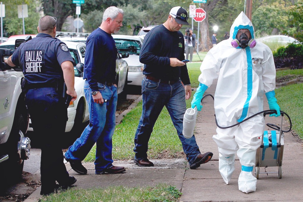
M 115 39 L 118 52 L 129 53 L 128 58 L 124 58 L 128 64 L 128 85 L 141 86 L 143 80 L 144 64 L 139 61 L 139 54 L 143 39 L 138 36 L 112 35 Z

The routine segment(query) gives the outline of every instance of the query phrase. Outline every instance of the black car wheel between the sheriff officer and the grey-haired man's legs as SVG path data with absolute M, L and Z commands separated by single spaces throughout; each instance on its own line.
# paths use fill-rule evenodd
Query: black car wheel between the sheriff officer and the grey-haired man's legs
M 84 110 L 85 110 L 84 100 L 81 99 L 79 100 L 76 109 L 74 125 L 72 127 L 72 130 L 70 131 L 72 134 L 72 138 L 74 140 L 76 140 L 82 134 Z

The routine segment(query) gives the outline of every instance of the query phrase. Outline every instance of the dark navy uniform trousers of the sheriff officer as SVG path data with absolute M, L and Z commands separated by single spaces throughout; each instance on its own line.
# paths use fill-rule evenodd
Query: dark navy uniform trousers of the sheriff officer
M 56 180 L 65 184 L 69 176 L 63 163 L 61 145 L 68 119 L 61 94 L 55 88 L 35 88 L 29 89 L 25 97 L 32 127 L 41 147 L 42 192 L 54 190 Z

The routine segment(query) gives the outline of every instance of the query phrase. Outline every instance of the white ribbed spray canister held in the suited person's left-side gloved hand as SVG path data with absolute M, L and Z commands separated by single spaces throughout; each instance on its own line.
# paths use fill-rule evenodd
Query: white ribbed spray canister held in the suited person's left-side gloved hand
M 198 110 L 195 108 L 188 108 L 185 111 L 183 117 L 183 136 L 185 138 L 191 138 L 194 135 L 196 118 L 197 118 Z

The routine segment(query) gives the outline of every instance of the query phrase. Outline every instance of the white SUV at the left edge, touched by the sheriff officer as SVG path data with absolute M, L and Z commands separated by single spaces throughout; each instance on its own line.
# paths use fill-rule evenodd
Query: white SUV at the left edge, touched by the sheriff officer
M 30 140 L 24 137 L 28 128 L 28 111 L 21 90 L 24 76 L 20 69 L 14 70 L 3 62 L 11 54 L 11 50 L 0 48 L 0 178 L 17 180 L 22 176 L 24 160 L 29 157 Z

